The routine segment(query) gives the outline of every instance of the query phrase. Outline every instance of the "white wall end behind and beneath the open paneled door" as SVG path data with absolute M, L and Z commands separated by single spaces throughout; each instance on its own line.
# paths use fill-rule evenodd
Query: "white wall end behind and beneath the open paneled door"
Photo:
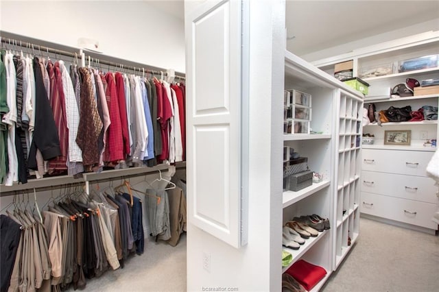
M 191 12 L 191 3 L 187 2 L 186 15 Z M 248 244 L 236 249 L 189 221 L 188 291 L 202 291 L 207 287 L 237 288 L 239 291 L 281 289 L 282 243 L 278 234 L 281 234 L 282 226 L 282 170 L 273 167 L 273 163 L 282 159 L 282 142 L 272 141 L 272 136 L 281 136 L 282 127 L 278 125 L 282 124 L 282 117 L 273 112 L 282 106 L 282 99 L 271 97 L 280 97 L 283 93 L 285 3 L 279 0 L 249 2 Z M 187 76 L 187 82 L 191 82 L 191 76 Z M 203 254 L 211 255 L 210 272 L 203 269 Z

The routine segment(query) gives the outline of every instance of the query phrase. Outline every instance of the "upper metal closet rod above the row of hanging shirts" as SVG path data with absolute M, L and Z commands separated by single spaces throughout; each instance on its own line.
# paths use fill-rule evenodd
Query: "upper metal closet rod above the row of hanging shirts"
M 1 36 L 4 35 L 4 36 Z M 148 65 L 144 65 L 144 64 L 138 64 L 135 62 L 130 62 L 127 60 L 121 60 L 121 59 L 117 59 L 117 58 L 113 58 L 115 60 L 117 60 L 117 62 L 112 62 L 112 61 L 108 61 L 108 60 L 101 60 L 102 54 L 100 53 L 94 53 L 91 51 L 87 51 L 86 49 L 80 49 L 79 53 L 76 52 L 71 52 L 71 51 L 66 51 L 66 50 L 62 50 L 62 49 L 55 49 L 53 47 L 49 47 L 48 45 L 37 45 L 36 42 L 38 42 L 38 40 L 33 39 L 33 38 L 27 38 L 27 37 L 21 37 L 19 35 L 16 34 L 11 34 L 8 32 L 1 32 L 0 31 L 0 38 L 1 38 L 1 42 L 4 43 L 5 45 L 10 45 L 10 46 L 15 46 L 15 47 L 23 47 L 26 49 L 32 49 L 32 51 L 40 51 L 40 52 L 44 52 L 46 51 L 47 53 L 54 53 L 54 54 L 58 54 L 58 55 L 62 55 L 62 56 L 68 56 L 71 58 L 82 58 L 82 56 L 84 56 L 84 61 L 93 61 L 95 62 L 95 60 L 97 60 L 97 62 L 95 62 L 95 64 L 104 64 L 107 66 L 113 66 L 116 68 L 119 68 L 121 70 L 123 69 L 128 69 L 134 72 L 139 71 L 139 73 L 150 73 L 150 74 L 154 74 L 154 75 L 163 75 L 163 76 L 167 76 L 168 73 L 165 69 L 160 69 L 158 67 L 154 67 L 154 66 L 148 66 Z M 43 42 L 43 41 L 42 41 Z M 49 42 L 47 42 L 49 43 Z M 63 46 L 64 47 L 64 46 Z M 71 47 L 71 50 L 76 50 L 78 48 L 73 48 Z M 85 54 L 87 53 L 87 56 L 85 56 Z M 93 55 L 93 56 L 92 56 Z M 129 65 L 126 65 L 126 64 Z M 137 66 L 135 66 L 135 65 Z M 179 73 L 176 72 L 175 78 L 178 78 L 180 80 L 185 80 L 185 76 L 184 73 Z

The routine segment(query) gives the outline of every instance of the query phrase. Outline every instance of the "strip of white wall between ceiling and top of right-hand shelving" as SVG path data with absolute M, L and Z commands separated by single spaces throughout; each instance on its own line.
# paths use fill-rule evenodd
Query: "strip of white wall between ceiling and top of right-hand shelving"
M 370 38 L 363 38 L 354 42 L 348 42 L 346 44 L 337 45 L 336 47 L 331 47 L 329 49 L 323 49 L 321 51 L 308 53 L 306 55 L 300 56 L 300 58 L 307 60 L 308 62 L 314 62 L 317 60 L 322 60 L 324 58 L 338 56 L 342 53 L 348 53 L 353 49 L 368 47 L 370 45 L 375 45 L 380 42 L 396 40 L 397 38 L 403 38 L 405 36 L 412 36 L 414 34 L 437 30 L 439 30 L 439 18 L 431 21 L 426 21 L 424 23 L 411 25 L 409 27 L 396 29 L 391 32 L 383 32 L 382 34 L 377 34 L 376 36 L 371 36 Z

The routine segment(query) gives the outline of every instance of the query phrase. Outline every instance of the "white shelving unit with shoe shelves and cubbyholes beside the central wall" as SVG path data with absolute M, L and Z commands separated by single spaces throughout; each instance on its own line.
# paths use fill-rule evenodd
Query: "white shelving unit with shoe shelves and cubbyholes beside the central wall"
M 285 52 L 285 90 L 287 89 L 296 89 L 311 95 L 310 127 L 311 130 L 322 134 L 283 134 L 284 146 L 294 149 L 300 157 L 307 157 L 309 169 L 322 174 L 323 180 L 300 191 L 284 190 L 283 223 L 294 217 L 318 214 L 329 218 L 331 229 L 319 232 L 315 238 L 306 239 L 299 250 L 283 247 L 293 255 L 292 263 L 284 267 L 283 272 L 301 258 L 323 267 L 327 276 L 312 290 L 318 291 L 335 270 L 338 263 L 337 250 L 341 250 L 341 247 L 345 250 L 350 248 L 347 246 L 348 230 L 351 230 L 352 243 L 357 239 L 353 234 L 359 233 L 357 184 L 361 161 L 359 141 L 363 96 L 288 51 Z M 339 169 L 338 165 L 342 167 Z M 343 171 L 345 166 L 348 169 L 346 178 Z M 340 199 L 337 197 L 339 180 L 342 190 L 352 186 L 352 191 Z M 350 208 L 346 219 L 340 223 L 340 228 L 337 228 L 337 204 L 341 202 L 342 212 L 345 200 L 346 206 Z M 346 241 L 337 241 L 337 234 Z

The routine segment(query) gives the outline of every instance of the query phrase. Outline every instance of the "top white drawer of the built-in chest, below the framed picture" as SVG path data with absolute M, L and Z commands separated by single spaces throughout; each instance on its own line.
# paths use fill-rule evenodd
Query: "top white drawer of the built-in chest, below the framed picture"
M 361 170 L 427 176 L 433 152 L 363 149 Z

